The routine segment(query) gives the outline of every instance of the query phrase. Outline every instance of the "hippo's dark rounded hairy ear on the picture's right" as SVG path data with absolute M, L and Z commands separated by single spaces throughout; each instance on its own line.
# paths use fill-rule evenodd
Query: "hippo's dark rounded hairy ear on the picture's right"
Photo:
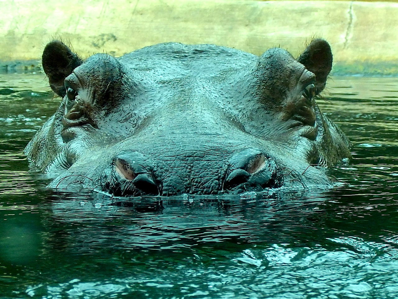
M 325 88 L 326 78 L 332 70 L 333 55 L 329 43 L 323 39 L 312 40 L 297 61 L 315 74 L 316 90 L 317 93 L 321 92 Z

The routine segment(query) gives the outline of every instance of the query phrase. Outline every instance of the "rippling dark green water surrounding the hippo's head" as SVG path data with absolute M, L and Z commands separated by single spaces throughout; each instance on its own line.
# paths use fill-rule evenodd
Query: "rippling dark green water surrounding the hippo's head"
M 398 79 L 333 77 L 318 101 L 353 142 L 331 190 L 128 207 L 45 189 L 23 148 L 58 106 L 0 75 L 0 298 L 396 298 Z

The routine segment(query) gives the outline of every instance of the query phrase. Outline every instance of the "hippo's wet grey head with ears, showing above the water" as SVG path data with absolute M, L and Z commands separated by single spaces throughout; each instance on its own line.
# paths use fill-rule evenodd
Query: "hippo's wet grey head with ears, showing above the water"
M 25 153 L 50 187 L 116 196 L 330 185 L 350 157 L 316 104 L 331 68 L 322 39 L 297 59 L 163 43 L 86 61 L 52 41 L 43 69 L 62 101 Z

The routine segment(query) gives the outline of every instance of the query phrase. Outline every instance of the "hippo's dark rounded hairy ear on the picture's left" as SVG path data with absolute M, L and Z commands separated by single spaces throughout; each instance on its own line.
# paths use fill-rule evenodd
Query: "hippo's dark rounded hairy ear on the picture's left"
M 58 40 L 50 41 L 46 45 L 41 59 L 51 89 L 64 97 L 66 94 L 64 79 L 83 61 L 67 45 Z

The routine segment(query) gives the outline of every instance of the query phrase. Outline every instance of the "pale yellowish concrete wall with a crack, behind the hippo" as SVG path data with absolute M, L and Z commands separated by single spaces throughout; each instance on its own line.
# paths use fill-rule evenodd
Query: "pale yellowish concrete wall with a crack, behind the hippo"
M 54 38 L 88 57 L 103 51 L 120 56 L 166 41 L 258 55 L 280 46 L 297 55 L 315 36 L 330 42 L 340 69 L 398 64 L 396 2 L 0 0 L 0 7 L 2 61 L 40 59 Z

